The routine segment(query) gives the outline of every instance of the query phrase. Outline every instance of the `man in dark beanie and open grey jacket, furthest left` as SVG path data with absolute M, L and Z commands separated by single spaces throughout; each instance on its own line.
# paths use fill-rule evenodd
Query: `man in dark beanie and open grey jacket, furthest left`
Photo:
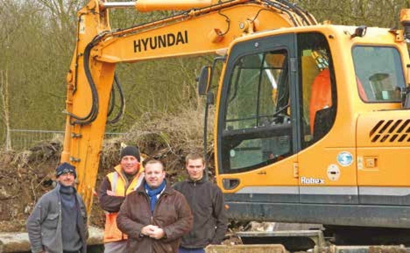
M 27 219 L 33 253 L 86 253 L 87 212 L 74 188 L 75 167 L 56 168 L 57 186 L 41 196 Z

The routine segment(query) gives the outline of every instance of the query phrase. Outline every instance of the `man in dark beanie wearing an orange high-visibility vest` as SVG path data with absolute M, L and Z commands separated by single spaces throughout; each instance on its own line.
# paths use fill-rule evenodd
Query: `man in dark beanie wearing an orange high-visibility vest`
M 123 253 L 127 235 L 117 228 L 117 215 L 125 196 L 141 185 L 144 168 L 139 149 L 127 146 L 121 149 L 120 164 L 114 167 L 101 183 L 98 192 L 100 206 L 105 210 L 104 253 Z

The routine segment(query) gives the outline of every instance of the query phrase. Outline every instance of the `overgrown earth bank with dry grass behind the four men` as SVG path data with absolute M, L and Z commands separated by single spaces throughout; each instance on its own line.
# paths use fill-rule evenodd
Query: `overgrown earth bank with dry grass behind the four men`
M 172 183 L 182 180 L 186 176 L 183 169 L 185 156 L 189 152 L 203 151 L 202 136 L 202 113 L 197 111 L 185 111 L 178 115 L 147 113 L 125 136 L 104 142 L 97 187 L 104 176 L 118 164 L 121 143 L 137 145 L 146 156 L 163 160 L 167 167 L 167 178 Z M 212 156 L 211 149 L 209 146 L 208 154 Z M 59 162 L 61 151 L 61 139 L 38 143 L 23 152 L 2 151 L 0 232 L 25 230 L 25 219 L 34 203 L 53 187 L 54 170 Z M 212 168 L 210 173 L 213 174 Z M 98 200 L 94 199 L 91 224 L 102 227 L 104 214 L 97 202 Z

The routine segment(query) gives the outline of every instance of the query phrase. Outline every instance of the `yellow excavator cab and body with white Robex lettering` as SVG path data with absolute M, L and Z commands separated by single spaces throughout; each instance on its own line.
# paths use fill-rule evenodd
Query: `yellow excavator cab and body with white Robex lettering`
M 407 47 L 397 30 L 360 31 L 283 28 L 233 43 L 214 138 L 232 218 L 410 228 Z

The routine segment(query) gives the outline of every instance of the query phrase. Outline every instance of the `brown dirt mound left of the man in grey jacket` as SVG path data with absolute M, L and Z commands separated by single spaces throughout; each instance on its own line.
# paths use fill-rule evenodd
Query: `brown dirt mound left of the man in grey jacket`
M 61 143 L 41 143 L 23 152 L 1 151 L 0 232 L 21 232 L 42 194 L 52 189 Z

